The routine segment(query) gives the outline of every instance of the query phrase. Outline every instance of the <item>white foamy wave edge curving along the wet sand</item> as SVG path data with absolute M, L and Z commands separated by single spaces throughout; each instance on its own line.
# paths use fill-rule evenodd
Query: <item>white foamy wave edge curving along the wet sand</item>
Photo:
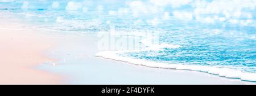
M 166 68 L 166 69 L 180 69 L 180 70 L 190 70 L 207 72 L 213 75 L 218 75 L 220 77 L 226 78 L 238 78 L 243 81 L 253 81 L 256 82 L 256 73 L 246 73 L 241 71 L 236 71 L 229 68 L 217 68 L 217 67 L 207 67 L 207 66 L 197 66 L 197 65 L 183 65 L 183 64 L 170 64 L 170 63 L 158 63 L 142 59 L 133 59 L 124 56 L 118 56 L 118 53 L 125 53 L 130 51 L 100 51 L 95 56 L 112 59 L 115 61 L 121 61 L 126 63 L 131 63 L 140 66 L 154 67 L 154 68 Z

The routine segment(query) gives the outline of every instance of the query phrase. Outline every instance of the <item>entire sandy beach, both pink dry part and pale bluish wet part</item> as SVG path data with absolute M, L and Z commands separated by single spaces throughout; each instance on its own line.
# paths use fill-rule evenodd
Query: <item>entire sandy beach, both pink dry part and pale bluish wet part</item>
M 28 30 L 6 18 L 0 33 L 0 84 L 255 84 L 99 58 L 97 33 Z

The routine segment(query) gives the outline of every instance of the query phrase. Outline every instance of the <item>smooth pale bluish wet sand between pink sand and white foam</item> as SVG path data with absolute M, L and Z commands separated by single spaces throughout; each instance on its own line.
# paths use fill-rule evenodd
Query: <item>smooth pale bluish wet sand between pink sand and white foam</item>
M 62 35 L 62 36 L 61 36 Z M 65 75 L 67 84 L 255 84 L 219 77 L 209 73 L 135 66 L 126 62 L 94 56 L 98 50 L 97 33 L 60 34 L 62 42 L 50 54 L 58 58 L 56 66 L 41 69 Z

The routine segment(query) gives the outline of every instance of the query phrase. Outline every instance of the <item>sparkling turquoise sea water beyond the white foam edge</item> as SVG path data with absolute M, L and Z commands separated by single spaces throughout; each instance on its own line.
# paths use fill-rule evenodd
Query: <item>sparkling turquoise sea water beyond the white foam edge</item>
M 159 43 L 179 45 L 121 54 L 163 63 L 256 72 L 256 1 L 253 0 L 0 0 L 0 11 L 38 28 L 101 32 L 150 30 Z M 118 31 L 117 31 L 118 32 Z

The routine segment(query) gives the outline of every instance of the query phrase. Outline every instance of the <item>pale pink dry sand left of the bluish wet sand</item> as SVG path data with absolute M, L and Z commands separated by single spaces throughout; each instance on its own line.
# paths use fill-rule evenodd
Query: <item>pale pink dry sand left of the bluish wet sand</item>
M 0 21 L 0 84 L 60 84 L 61 76 L 34 68 L 52 60 L 43 53 L 53 41 L 19 28 L 10 20 Z

